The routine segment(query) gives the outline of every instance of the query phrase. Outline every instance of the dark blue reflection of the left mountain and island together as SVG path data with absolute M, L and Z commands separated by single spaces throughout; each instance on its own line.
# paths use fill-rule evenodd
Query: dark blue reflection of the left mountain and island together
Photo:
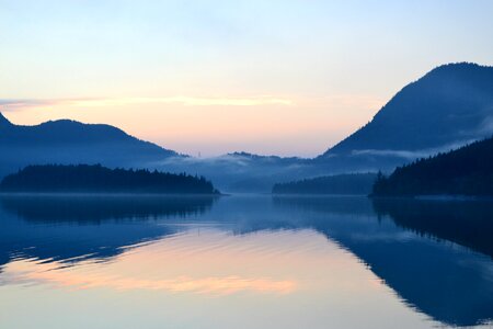
M 0 265 L 20 256 L 62 261 L 114 257 L 124 247 L 176 231 L 151 219 L 197 216 L 213 202 L 213 197 L 2 195 Z

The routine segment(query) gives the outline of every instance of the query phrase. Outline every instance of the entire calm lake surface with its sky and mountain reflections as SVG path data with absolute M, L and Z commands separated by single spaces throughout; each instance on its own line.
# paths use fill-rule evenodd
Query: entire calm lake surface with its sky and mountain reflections
M 0 328 L 493 325 L 493 202 L 2 195 Z

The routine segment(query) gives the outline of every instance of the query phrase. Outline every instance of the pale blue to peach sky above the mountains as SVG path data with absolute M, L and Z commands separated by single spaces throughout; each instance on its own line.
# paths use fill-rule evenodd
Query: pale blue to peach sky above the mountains
M 192 156 L 312 157 L 436 66 L 493 65 L 493 1 L 0 0 L 0 111 Z

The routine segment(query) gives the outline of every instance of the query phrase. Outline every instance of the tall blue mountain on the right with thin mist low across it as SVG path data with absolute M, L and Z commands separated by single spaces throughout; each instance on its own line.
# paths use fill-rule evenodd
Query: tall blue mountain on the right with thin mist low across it
M 449 64 L 398 92 L 364 127 L 317 160 L 391 170 L 493 133 L 493 67 Z

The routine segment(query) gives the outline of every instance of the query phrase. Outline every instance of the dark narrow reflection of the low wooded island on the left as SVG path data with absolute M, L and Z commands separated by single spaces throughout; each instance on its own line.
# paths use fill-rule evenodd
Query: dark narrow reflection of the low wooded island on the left
M 2 208 L 25 220 L 101 223 L 204 214 L 215 196 L 4 194 Z

